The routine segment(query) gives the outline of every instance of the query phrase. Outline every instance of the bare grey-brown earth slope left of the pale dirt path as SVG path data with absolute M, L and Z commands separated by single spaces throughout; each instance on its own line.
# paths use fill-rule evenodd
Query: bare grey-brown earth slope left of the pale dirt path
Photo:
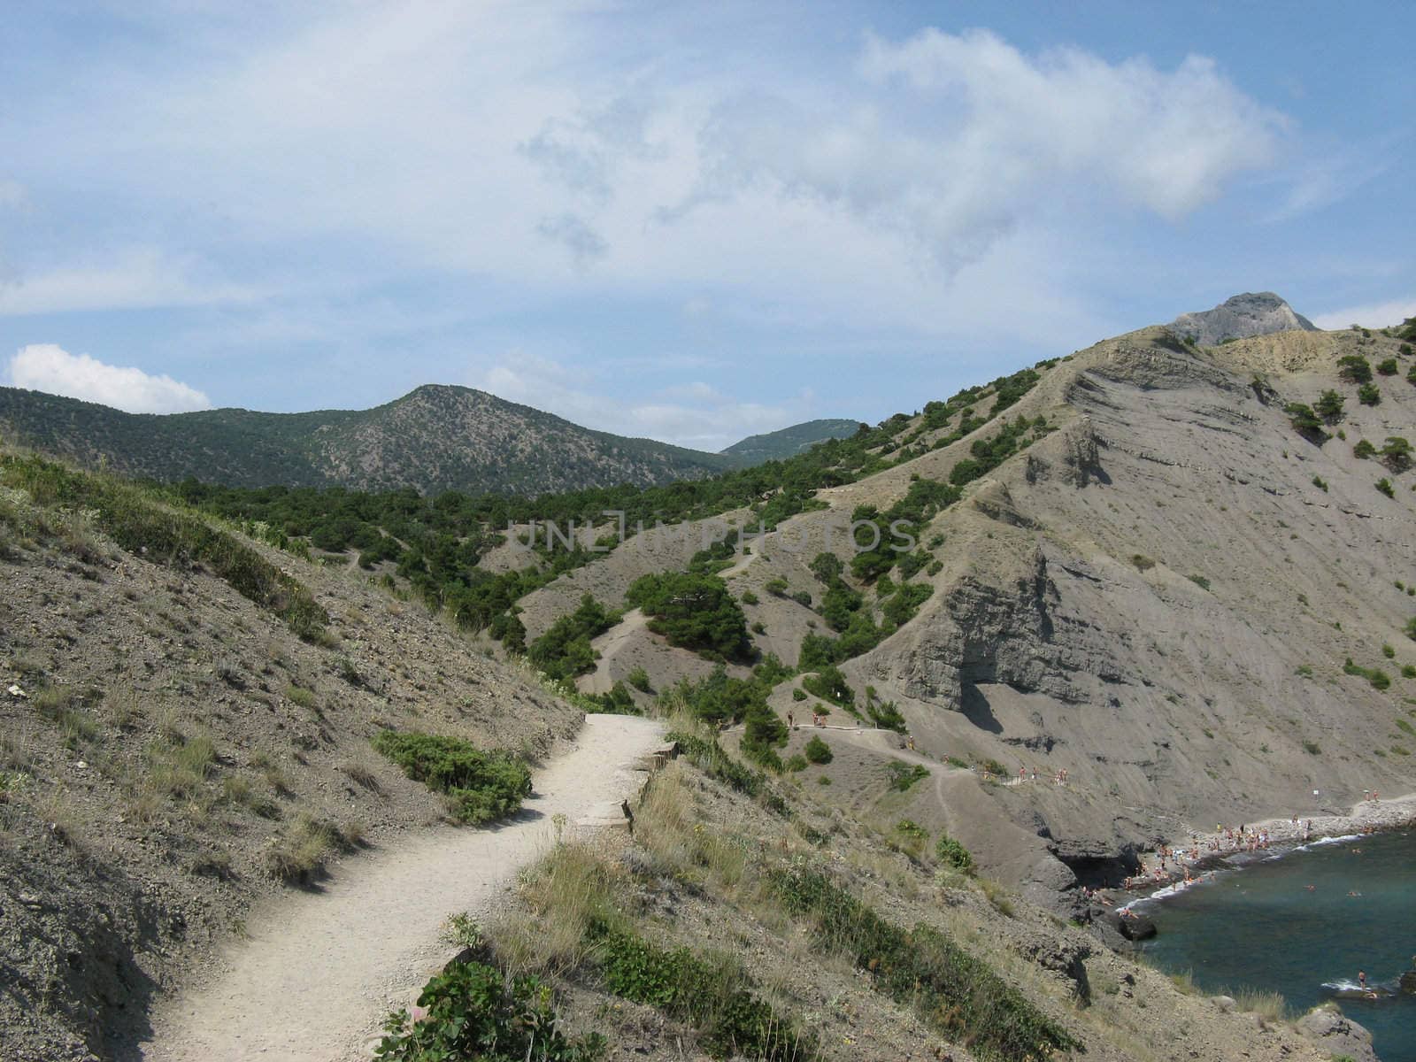
M 276 874 L 319 888 L 341 850 L 442 821 L 442 799 L 370 746 L 382 726 L 530 755 L 579 729 L 579 709 L 422 606 L 263 555 L 330 613 L 321 644 L 205 565 L 123 551 L 0 487 L 7 1062 L 122 1056 L 253 903 L 299 888 Z

